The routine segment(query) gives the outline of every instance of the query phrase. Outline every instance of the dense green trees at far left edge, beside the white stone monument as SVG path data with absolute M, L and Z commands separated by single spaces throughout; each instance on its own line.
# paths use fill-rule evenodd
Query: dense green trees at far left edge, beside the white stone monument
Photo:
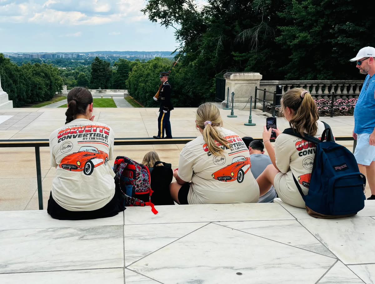
M 13 107 L 50 100 L 62 90 L 58 69 L 48 64 L 23 64 L 21 67 L 0 54 L 1 86 L 13 100 Z

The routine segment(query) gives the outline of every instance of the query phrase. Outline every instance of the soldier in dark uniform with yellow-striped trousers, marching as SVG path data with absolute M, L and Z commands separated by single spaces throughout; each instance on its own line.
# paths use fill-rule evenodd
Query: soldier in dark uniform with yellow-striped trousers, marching
M 159 93 L 160 108 L 159 108 L 159 118 L 157 119 L 158 132 L 157 135 L 153 136 L 155 139 L 171 139 L 172 130 L 171 122 L 169 118 L 171 117 L 171 110 L 173 109 L 171 103 L 171 85 L 168 82 L 169 72 L 160 72 L 160 81 L 162 81 L 162 87 Z M 154 100 L 158 100 L 155 96 Z M 165 130 L 165 135 L 164 135 Z

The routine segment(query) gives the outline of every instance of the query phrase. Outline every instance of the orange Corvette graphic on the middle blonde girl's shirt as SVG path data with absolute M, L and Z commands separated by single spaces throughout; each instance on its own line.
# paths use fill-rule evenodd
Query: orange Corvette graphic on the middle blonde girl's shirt
M 211 176 L 218 181 L 235 181 L 241 183 L 245 178 L 245 173 L 251 168 L 250 158 L 238 156 L 232 163 L 214 172 Z

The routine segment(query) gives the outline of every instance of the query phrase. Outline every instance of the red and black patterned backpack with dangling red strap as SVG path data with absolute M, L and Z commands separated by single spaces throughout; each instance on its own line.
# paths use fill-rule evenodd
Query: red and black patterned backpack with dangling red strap
M 151 211 L 157 214 L 154 204 L 151 203 L 153 190 L 150 187 L 151 178 L 147 166 L 128 157 L 118 156 L 113 171 L 116 190 L 120 189 L 123 193 L 126 206 L 151 206 Z

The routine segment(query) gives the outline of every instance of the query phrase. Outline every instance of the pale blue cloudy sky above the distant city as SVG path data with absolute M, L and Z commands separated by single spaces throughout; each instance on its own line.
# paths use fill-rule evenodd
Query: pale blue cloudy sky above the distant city
M 0 52 L 172 51 L 144 0 L 0 0 Z

